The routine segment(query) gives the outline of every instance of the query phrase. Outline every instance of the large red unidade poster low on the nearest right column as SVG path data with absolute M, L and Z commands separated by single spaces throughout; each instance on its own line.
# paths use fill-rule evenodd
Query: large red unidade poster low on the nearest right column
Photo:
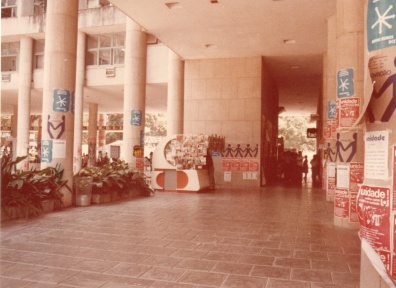
M 390 189 L 362 185 L 358 196 L 360 236 L 379 253 L 390 247 Z

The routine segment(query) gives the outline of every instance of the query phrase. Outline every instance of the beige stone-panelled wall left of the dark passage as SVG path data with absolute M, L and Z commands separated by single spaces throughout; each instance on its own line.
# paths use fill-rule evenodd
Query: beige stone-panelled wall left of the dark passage
M 261 101 L 261 57 L 186 60 L 184 134 L 217 134 L 226 146 L 260 145 Z M 216 185 L 259 186 L 260 179 L 243 179 L 243 172 L 225 182 L 222 157 L 213 158 Z

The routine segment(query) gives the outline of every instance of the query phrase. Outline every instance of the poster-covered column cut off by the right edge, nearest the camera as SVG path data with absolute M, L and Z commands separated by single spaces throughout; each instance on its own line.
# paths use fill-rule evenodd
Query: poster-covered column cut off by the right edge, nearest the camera
M 364 181 L 357 199 L 362 247 L 396 285 L 396 1 L 366 1 Z M 368 245 L 366 245 L 368 243 Z

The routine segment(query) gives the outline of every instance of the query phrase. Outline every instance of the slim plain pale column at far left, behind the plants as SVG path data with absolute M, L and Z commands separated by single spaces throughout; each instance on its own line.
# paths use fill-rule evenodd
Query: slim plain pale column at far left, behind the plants
M 18 83 L 18 131 L 17 156 L 28 155 L 30 131 L 30 89 L 32 85 L 33 39 L 22 36 L 19 52 Z M 29 157 L 18 165 L 19 169 L 29 170 Z

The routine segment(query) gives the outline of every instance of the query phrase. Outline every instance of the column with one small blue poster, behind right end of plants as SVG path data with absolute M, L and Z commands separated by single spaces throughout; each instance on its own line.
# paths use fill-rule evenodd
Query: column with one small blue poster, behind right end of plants
M 144 145 L 147 35 L 127 17 L 125 39 L 124 137 L 121 159 L 136 168 L 133 147 Z

